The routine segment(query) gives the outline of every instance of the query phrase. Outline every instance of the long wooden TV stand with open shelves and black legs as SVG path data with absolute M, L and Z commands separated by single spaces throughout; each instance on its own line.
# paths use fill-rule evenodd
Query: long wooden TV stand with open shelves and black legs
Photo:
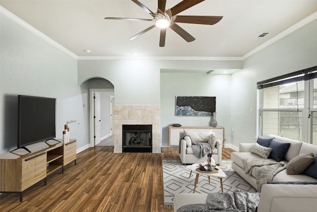
M 76 165 L 76 139 L 63 143 L 57 141 L 39 142 L 27 146 L 31 153 L 24 149 L 0 154 L 0 193 L 22 192 L 53 172 L 61 170 L 74 161 Z

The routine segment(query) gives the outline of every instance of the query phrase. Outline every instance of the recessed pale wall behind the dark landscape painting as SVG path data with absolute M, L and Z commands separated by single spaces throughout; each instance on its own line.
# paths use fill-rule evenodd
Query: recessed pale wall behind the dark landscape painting
M 168 145 L 168 126 L 210 126 L 212 117 L 175 116 L 175 96 L 215 96 L 216 120 L 225 128 L 225 138 L 230 138 L 231 75 L 207 73 L 160 74 L 162 146 Z M 229 140 L 227 140 L 230 142 Z

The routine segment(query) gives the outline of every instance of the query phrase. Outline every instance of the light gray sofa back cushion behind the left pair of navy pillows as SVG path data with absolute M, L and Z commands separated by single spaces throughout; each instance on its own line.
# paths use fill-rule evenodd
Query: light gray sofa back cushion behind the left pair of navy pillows
M 287 161 L 290 161 L 291 159 L 293 159 L 294 157 L 296 157 L 300 153 L 312 152 L 312 151 L 300 152 L 301 146 L 303 144 L 303 142 L 301 142 L 301 141 L 296 141 L 296 140 L 293 140 L 293 139 L 287 139 L 287 138 L 280 137 L 280 136 L 275 136 L 275 135 L 268 135 L 268 137 L 269 138 L 274 138 L 275 137 L 275 140 L 283 141 L 283 142 L 286 142 L 286 143 L 291 143 L 288 151 L 286 152 L 286 154 L 284 156 L 285 160 L 287 160 Z

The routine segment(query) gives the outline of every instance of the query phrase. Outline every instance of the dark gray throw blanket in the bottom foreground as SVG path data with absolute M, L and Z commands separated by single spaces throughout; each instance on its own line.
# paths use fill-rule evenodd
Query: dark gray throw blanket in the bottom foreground
M 207 204 L 186 205 L 177 212 L 257 212 L 260 200 L 259 193 L 235 190 L 229 193 L 210 193 Z

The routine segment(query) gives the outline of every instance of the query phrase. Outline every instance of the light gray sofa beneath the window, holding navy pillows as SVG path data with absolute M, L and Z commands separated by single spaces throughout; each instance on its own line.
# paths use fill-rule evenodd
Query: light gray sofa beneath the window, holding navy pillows
M 313 153 L 314 157 L 317 155 L 317 145 L 313 145 L 306 142 L 296 141 L 292 139 L 286 139 L 283 137 L 268 135 L 267 138 L 275 138 L 277 141 L 282 141 L 285 143 L 290 143 L 289 148 L 283 157 L 282 161 L 286 164 L 303 153 Z M 246 174 L 243 169 L 243 158 L 249 159 L 261 159 L 262 157 L 251 152 L 252 147 L 254 147 L 255 143 L 240 143 L 239 144 L 239 152 L 232 152 L 232 169 L 237 172 L 242 178 L 244 178 L 248 183 L 250 183 L 254 188 L 257 188 L 256 184 L 256 169 L 254 168 L 251 175 Z M 270 157 L 268 157 L 270 159 Z M 316 161 L 315 161 L 316 163 Z M 317 170 L 316 170 L 317 172 Z M 302 181 L 302 182 L 317 182 L 317 179 L 311 176 L 308 176 L 304 173 L 302 174 L 287 174 L 287 169 L 284 169 L 277 173 L 273 179 L 273 182 L 290 182 L 290 181 Z

